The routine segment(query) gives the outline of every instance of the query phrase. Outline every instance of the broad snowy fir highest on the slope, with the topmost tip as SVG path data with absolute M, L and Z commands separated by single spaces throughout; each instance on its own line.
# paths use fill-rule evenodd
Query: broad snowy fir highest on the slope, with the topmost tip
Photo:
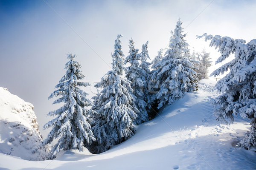
M 152 74 L 152 79 L 156 82 L 157 94 L 153 95 L 153 100 L 158 103 L 157 108 L 164 104 L 172 104 L 176 99 L 183 97 L 185 92 L 197 90 L 197 74 L 194 65 L 190 62 L 188 43 L 184 40 L 186 34 L 183 33 L 180 19 L 170 38 L 169 50 L 157 64 L 159 72 Z

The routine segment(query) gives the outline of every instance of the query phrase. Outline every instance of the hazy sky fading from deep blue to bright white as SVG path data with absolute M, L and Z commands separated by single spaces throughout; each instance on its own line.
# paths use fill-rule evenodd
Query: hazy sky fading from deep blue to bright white
M 149 41 L 152 60 L 168 47 L 180 18 L 191 52 L 205 47 L 214 64 L 220 54 L 196 35 L 207 32 L 249 42 L 256 37 L 255 8 L 253 0 L 0 0 L 0 87 L 34 105 L 45 139 L 49 130 L 42 127 L 53 119 L 47 113 L 61 106 L 48 97 L 65 74 L 68 53 L 77 55 L 91 98 L 93 85 L 111 70 L 118 34 L 124 36 L 125 56 L 131 38 L 140 51 Z

